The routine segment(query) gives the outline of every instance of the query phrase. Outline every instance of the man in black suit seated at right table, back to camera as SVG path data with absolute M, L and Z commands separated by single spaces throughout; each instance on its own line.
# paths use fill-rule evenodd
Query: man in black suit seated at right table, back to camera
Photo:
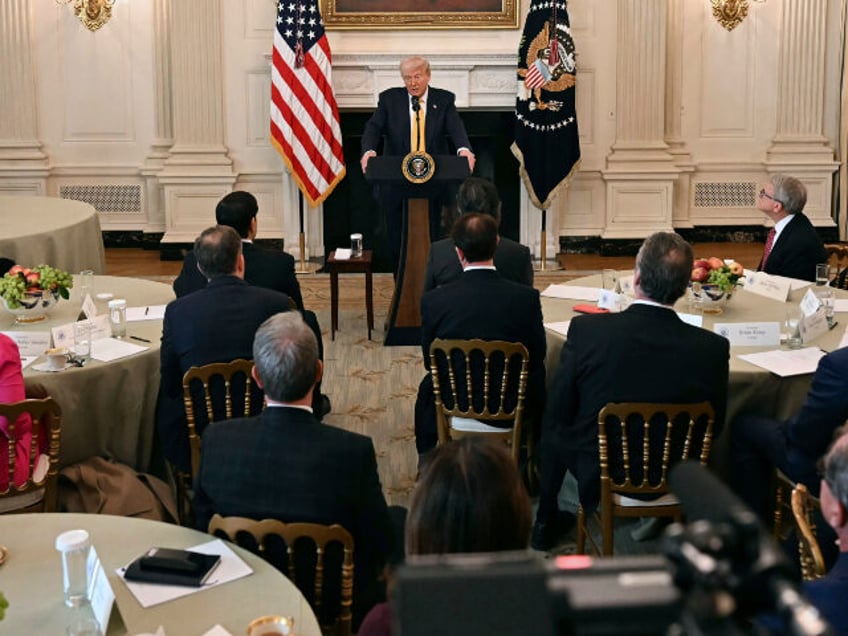
M 692 272 L 692 247 L 658 232 L 636 256 L 636 300 L 615 314 L 577 316 L 548 391 L 542 424 L 536 550 L 550 549 L 574 517 L 557 510 L 566 472 L 577 479 L 580 502 L 595 510 L 600 498 L 598 412 L 608 402 L 709 401 L 714 434 L 724 422 L 730 344 L 683 322 L 673 305 Z M 559 526 L 559 527 L 558 527 Z

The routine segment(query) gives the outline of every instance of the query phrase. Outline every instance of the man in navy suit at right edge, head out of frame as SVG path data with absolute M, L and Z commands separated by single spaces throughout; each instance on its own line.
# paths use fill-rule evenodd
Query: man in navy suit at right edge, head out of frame
M 733 421 L 733 484 L 739 497 L 768 521 L 775 468 L 818 495 L 816 462 L 846 419 L 848 347 L 819 360 L 807 399 L 795 416 L 780 421 L 749 412 Z

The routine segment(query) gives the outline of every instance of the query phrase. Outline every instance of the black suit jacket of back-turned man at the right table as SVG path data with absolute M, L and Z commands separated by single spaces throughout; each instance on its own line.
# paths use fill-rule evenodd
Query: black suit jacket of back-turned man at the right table
M 581 501 L 597 504 L 601 407 L 708 400 L 717 435 L 727 406 L 729 356 L 727 339 L 687 325 L 663 307 L 637 303 L 618 314 L 574 318 L 548 391 L 543 462 L 580 454 L 579 465 L 566 468 L 578 480 Z M 559 490 L 558 483 L 542 487 Z

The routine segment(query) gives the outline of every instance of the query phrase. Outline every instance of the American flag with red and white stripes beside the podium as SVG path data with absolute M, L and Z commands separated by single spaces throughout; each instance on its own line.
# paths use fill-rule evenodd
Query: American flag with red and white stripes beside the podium
M 332 55 L 318 0 L 277 3 L 271 68 L 271 143 L 309 205 L 345 175 Z

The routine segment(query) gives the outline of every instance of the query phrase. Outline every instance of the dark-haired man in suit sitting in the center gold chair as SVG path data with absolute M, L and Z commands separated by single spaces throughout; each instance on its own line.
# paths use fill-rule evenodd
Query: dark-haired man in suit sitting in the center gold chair
M 524 421 L 533 422 L 544 409 L 545 329 L 539 292 L 506 280 L 495 269 L 498 226 L 488 214 L 464 214 L 456 220 L 453 242 L 462 276 L 421 298 L 421 349 L 430 368 L 430 344 L 436 338 L 521 342 L 530 355 Z M 428 373 L 415 401 L 415 443 L 420 456 L 436 446 L 433 378 Z

